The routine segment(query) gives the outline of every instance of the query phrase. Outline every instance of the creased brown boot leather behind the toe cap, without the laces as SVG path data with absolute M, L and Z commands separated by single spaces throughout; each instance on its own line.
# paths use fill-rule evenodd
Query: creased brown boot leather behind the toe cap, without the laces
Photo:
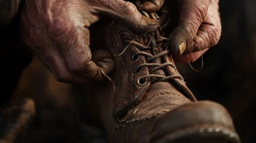
M 149 32 L 149 35 L 134 34 L 122 24 L 112 22 L 101 37 L 105 43 L 97 45 L 105 47 L 104 50 L 109 51 L 115 61 L 115 70 L 110 74 L 113 85 L 106 79 L 95 86 L 87 86 L 92 86 L 91 90 L 95 88 L 94 94 L 98 98 L 101 120 L 110 142 L 149 142 L 153 133 L 152 125 L 156 119 L 180 105 L 196 101 L 182 77 L 161 82 L 152 82 L 148 78 L 145 85 L 138 85 L 137 80 L 143 76 L 178 74 L 174 61 L 167 53 L 150 62 L 147 61 L 149 57 L 143 55 L 136 61 L 132 60 L 132 55 L 140 52 L 140 48 L 126 43 L 127 41 L 137 41 L 141 45 L 154 47 L 144 50 L 148 54 L 157 55 L 163 52 L 164 43 L 156 41 L 161 38 L 158 32 L 159 29 Z M 140 72 L 134 73 L 137 67 L 145 63 L 172 63 L 172 66 L 163 66 L 158 70 L 145 66 L 141 67 Z M 134 133 L 132 130 L 137 131 Z

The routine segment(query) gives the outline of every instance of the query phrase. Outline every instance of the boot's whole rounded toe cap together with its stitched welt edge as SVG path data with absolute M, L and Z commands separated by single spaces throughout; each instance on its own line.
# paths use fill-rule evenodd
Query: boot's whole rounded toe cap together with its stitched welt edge
M 226 108 L 212 101 L 185 104 L 164 114 L 153 136 L 152 142 L 240 142 Z

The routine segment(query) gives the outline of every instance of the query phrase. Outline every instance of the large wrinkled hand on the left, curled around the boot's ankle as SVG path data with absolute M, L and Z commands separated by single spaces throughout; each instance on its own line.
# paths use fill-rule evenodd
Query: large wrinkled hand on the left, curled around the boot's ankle
M 135 5 L 123 0 L 26 0 L 21 10 L 21 36 L 61 82 L 101 80 L 114 69 L 107 51 L 91 54 L 88 27 L 109 17 L 129 29 L 156 25 Z

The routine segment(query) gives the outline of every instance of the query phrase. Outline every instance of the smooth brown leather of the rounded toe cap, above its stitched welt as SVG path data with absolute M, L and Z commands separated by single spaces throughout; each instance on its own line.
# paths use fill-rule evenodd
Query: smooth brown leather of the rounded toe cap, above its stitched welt
M 169 128 L 165 128 L 168 126 Z M 155 124 L 155 135 L 164 135 L 177 131 L 178 128 L 200 126 L 218 126 L 235 131 L 233 122 L 226 108 L 211 101 L 186 104 L 165 114 Z M 155 136 L 156 138 L 157 136 Z

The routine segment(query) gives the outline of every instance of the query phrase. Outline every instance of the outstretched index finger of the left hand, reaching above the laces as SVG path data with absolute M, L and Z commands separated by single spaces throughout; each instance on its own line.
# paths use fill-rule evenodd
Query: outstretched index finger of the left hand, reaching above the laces
M 155 20 L 142 15 L 134 4 L 123 0 L 102 0 L 98 11 L 119 21 L 134 32 L 147 32 L 157 26 Z

